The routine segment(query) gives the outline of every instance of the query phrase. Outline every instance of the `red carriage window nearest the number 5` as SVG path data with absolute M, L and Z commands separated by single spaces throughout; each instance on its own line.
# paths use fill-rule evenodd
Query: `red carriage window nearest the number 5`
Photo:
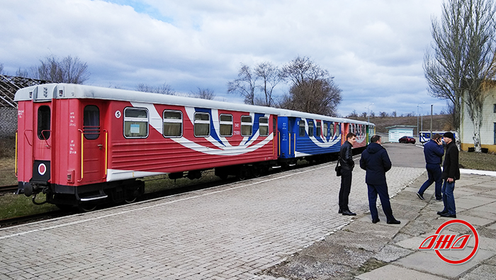
M 148 110 L 145 108 L 124 109 L 124 137 L 148 137 Z

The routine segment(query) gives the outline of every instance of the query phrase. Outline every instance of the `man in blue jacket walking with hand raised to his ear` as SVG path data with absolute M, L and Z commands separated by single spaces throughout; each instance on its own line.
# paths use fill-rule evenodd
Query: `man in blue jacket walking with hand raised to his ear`
M 441 135 L 439 133 L 434 134 L 434 136 L 429 140 L 429 142 L 424 144 L 424 157 L 425 157 L 425 169 L 427 169 L 427 175 L 429 178 L 422 184 L 417 196 L 424 200 L 424 191 L 436 182 L 436 189 L 434 193 L 436 194 L 436 201 L 442 199 L 441 196 L 441 186 L 443 185 L 443 179 L 441 179 L 441 163 L 443 162 L 444 147 L 443 142 L 441 142 Z

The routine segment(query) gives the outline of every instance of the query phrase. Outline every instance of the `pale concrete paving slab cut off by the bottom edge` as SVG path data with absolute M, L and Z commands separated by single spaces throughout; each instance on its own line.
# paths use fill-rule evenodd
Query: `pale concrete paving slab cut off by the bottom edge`
M 405 267 L 398 267 L 393 264 L 374 269 L 373 271 L 361 274 L 355 278 L 360 280 L 444 280 L 444 278 L 439 276 L 422 273 Z

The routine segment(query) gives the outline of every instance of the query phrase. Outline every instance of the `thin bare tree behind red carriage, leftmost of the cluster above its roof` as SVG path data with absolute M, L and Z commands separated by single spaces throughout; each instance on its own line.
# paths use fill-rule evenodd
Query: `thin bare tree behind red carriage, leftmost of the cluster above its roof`
M 244 103 L 254 105 L 257 79 L 257 74 L 254 74 L 248 65 L 242 63 L 237 79 L 227 83 L 227 93 L 244 96 Z

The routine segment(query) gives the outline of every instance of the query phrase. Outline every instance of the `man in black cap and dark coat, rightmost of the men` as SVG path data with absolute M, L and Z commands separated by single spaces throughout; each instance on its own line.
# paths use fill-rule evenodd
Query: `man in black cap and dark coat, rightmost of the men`
M 443 173 L 441 178 L 444 179 L 443 184 L 443 211 L 437 214 L 442 217 L 456 218 L 455 197 L 453 190 L 455 189 L 455 180 L 460 179 L 460 167 L 458 167 L 458 147 L 455 144 L 455 136 L 453 133 L 447 132 L 443 135 L 443 140 L 446 142 L 446 155 L 444 157 Z

